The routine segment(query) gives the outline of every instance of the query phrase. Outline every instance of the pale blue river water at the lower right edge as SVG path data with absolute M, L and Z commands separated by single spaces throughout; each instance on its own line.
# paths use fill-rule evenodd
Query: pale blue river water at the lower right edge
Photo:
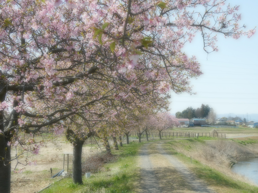
M 231 171 L 244 175 L 258 185 L 258 157 L 237 161 L 238 163 L 232 166 Z

